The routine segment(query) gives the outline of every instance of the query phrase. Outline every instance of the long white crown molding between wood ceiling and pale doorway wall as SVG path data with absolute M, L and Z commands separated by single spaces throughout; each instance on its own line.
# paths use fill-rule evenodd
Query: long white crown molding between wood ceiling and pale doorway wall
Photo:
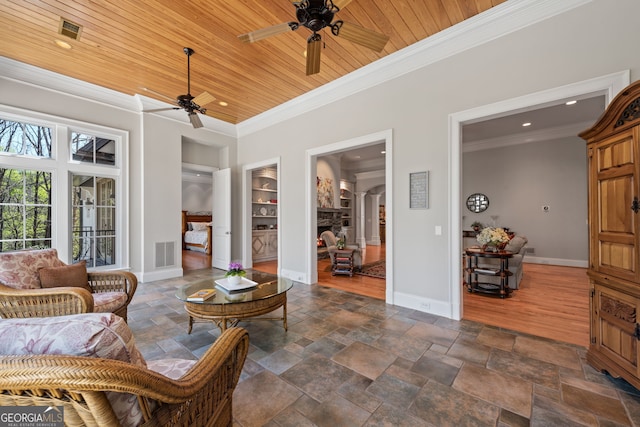
M 238 123 L 238 137 L 329 105 L 593 0 L 508 0 L 346 76 Z

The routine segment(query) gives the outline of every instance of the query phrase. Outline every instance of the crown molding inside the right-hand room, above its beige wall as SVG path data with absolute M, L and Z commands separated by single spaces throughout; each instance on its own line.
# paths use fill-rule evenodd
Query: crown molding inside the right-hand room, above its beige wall
M 530 142 L 550 141 L 553 139 L 569 137 L 578 138 L 578 133 L 587 129 L 592 124 L 592 122 L 580 122 L 566 126 L 556 126 L 553 128 L 541 129 L 538 131 L 506 135 L 499 138 L 465 142 L 464 144 L 462 144 L 462 151 L 464 153 L 470 153 L 472 151 L 488 150 L 491 148 L 507 147 L 510 145 L 528 144 Z

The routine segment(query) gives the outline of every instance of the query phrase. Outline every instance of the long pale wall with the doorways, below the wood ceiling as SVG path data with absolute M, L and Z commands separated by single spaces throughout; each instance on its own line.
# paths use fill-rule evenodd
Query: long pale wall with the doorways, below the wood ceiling
M 640 57 L 633 54 L 640 36 L 637 16 L 640 2 L 622 0 L 612 7 L 606 0 L 593 1 L 312 113 L 241 136 L 242 163 L 276 155 L 282 159 L 282 267 L 291 271 L 308 267 L 307 248 L 299 238 L 307 232 L 305 151 L 393 129 L 394 216 L 387 229 L 393 227 L 396 247 L 395 296 L 406 304 L 411 300 L 456 304 L 450 294 L 454 275 L 448 242 L 452 227 L 459 227 L 449 223 L 449 209 L 459 201 L 450 200 L 449 115 L 626 69 L 631 70 L 632 80 L 637 79 Z M 310 132 L 317 123 L 332 126 Z M 430 172 L 430 207 L 410 210 L 409 173 L 423 170 Z M 436 226 L 442 227 L 442 235 L 435 234 Z M 417 275 L 418 271 L 428 274 Z

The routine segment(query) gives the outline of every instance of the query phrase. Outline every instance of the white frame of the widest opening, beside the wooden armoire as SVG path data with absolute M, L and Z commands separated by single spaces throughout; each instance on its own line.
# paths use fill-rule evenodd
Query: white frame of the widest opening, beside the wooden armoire
M 539 108 L 545 104 L 554 104 L 560 100 L 584 97 L 584 95 L 605 95 L 608 105 L 615 95 L 630 83 L 630 71 L 624 70 L 605 76 L 596 77 L 560 86 L 557 88 L 523 95 L 517 98 L 483 105 L 449 115 L 449 248 L 451 318 L 461 320 L 463 316 L 462 302 L 462 127 L 489 118 L 507 116 L 521 111 Z M 586 185 L 586 183 L 585 183 Z

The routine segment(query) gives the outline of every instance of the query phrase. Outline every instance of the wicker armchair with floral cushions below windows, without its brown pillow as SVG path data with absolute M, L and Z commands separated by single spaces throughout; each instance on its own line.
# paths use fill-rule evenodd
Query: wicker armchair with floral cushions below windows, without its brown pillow
M 126 271 L 87 272 L 88 289 L 42 288 L 38 270 L 65 264 L 55 249 L 0 253 L 0 317 L 51 317 L 113 312 L 127 320 L 138 279 Z

